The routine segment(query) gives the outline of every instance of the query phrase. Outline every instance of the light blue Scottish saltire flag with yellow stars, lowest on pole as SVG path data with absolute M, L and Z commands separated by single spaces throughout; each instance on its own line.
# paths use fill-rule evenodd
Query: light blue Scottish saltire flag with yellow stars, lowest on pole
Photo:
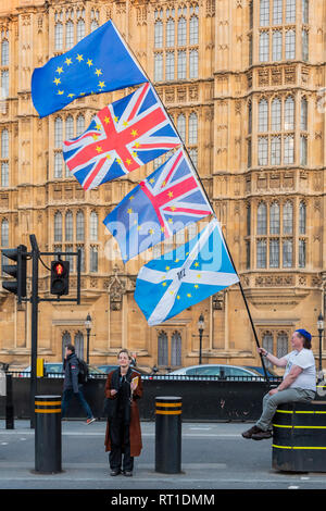
M 141 267 L 135 300 L 149 325 L 159 325 L 239 282 L 214 219 L 188 244 Z

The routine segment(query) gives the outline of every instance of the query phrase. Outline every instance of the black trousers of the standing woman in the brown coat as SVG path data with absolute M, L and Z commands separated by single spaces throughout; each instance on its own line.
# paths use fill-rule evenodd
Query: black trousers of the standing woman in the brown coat
M 111 451 L 109 463 L 111 470 L 133 471 L 134 458 L 130 456 L 129 425 L 123 419 L 117 417 L 110 421 Z M 124 458 L 122 459 L 122 454 Z

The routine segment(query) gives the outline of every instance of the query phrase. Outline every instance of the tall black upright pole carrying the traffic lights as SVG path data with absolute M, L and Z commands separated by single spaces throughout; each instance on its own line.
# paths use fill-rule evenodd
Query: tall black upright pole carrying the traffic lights
M 35 396 L 37 395 L 37 333 L 38 333 L 38 258 L 39 250 L 34 234 L 29 236 L 32 246 L 32 352 L 30 352 L 30 427 L 35 427 Z

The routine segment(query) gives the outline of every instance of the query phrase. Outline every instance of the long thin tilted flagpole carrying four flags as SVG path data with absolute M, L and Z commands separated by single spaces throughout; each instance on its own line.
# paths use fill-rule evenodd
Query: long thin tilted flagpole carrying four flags
M 111 21 L 111 22 L 112 22 L 112 21 Z M 116 28 L 115 24 L 114 24 L 113 22 L 112 22 L 112 24 L 113 24 L 115 30 L 120 34 L 120 30 Z M 121 34 L 120 34 L 120 36 L 122 37 Z M 149 83 L 150 85 L 152 85 L 151 79 L 150 79 L 150 77 L 148 76 L 146 70 L 143 70 L 143 67 L 142 67 L 142 65 L 140 64 L 140 62 L 138 62 L 138 59 L 136 58 L 134 51 L 130 49 L 130 47 L 129 47 L 129 45 L 128 45 L 127 41 L 125 41 L 125 45 L 127 46 L 129 52 L 134 55 L 134 59 L 137 61 L 137 63 L 138 63 L 139 67 L 140 67 L 140 70 L 141 70 L 141 72 L 142 72 L 143 75 L 147 77 L 148 83 Z M 199 180 L 199 184 L 200 184 L 200 186 L 201 186 L 201 188 L 202 188 L 202 191 L 204 192 L 204 195 L 205 195 L 205 197 L 206 197 L 206 200 L 208 200 L 208 202 L 209 202 L 209 204 L 210 204 L 210 207 L 211 207 L 212 214 L 213 214 L 213 216 L 214 216 L 214 217 L 217 220 L 217 222 L 218 222 L 218 219 L 217 219 L 216 213 L 215 213 L 215 211 L 214 211 L 214 208 L 213 208 L 213 205 L 212 205 L 212 203 L 211 203 L 211 200 L 210 200 L 210 198 L 209 198 L 209 196 L 208 196 L 208 192 L 206 192 L 206 190 L 205 190 L 205 188 L 204 188 L 204 186 L 203 186 L 203 184 L 202 184 L 201 177 L 200 177 L 200 175 L 199 175 L 199 173 L 198 173 L 196 166 L 193 165 L 193 162 L 192 162 L 192 160 L 191 160 L 191 158 L 190 158 L 190 155 L 189 155 L 188 149 L 186 148 L 186 146 L 185 146 L 185 144 L 184 144 L 184 141 L 183 141 L 183 139 L 181 139 L 181 137 L 180 137 L 180 135 L 179 135 L 179 133 L 178 133 L 178 130 L 177 130 L 175 124 L 174 124 L 174 121 L 171 119 L 171 116 L 170 116 L 170 114 L 168 114 L 168 112 L 167 112 L 167 110 L 166 110 L 164 103 L 161 101 L 161 98 L 159 97 L 159 95 L 158 95 L 158 92 L 156 92 L 154 86 L 153 86 L 153 89 L 154 89 L 154 92 L 155 92 L 155 95 L 156 95 L 156 97 L 158 97 L 158 100 L 160 101 L 162 108 L 163 108 L 164 111 L 165 111 L 165 114 L 166 114 L 167 117 L 170 119 L 170 121 L 171 121 L 171 123 L 172 123 L 172 125 L 173 125 L 173 127 L 174 127 L 174 129 L 175 129 L 177 136 L 178 136 L 179 139 L 180 139 L 183 149 L 185 150 L 185 152 L 186 152 L 186 154 L 187 154 L 187 158 L 188 158 L 188 160 L 189 160 L 190 163 L 191 163 L 192 170 L 195 171 L 195 173 L 196 173 L 196 175 L 197 175 L 197 178 L 198 178 L 198 180 Z M 221 233 L 222 233 L 222 237 L 223 237 L 225 247 L 226 247 L 227 252 L 228 252 L 228 257 L 229 257 L 229 259 L 230 259 L 230 261 L 231 261 L 231 264 L 233 264 L 233 266 L 234 266 L 234 270 L 235 270 L 235 272 L 236 272 L 236 274 L 237 274 L 237 276 L 238 276 L 238 278 L 239 278 L 239 287 L 240 287 L 240 291 L 241 291 L 241 295 L 242 295 L 242 298 L 243 298 L 243 301 L 244 301 L 244 306 L 246 306 L 246 309 L 247 309 L 247 312 L 248 312 L 248 315 L 249 315 L 250 324 L 251 324 L 251 327 L 252 327 L 252 331 L 253 331 L 253 335 L 254 335 L 254 340 L 255 340 L 255 344 L 256 344 L 258 348 L 260 348 L 258 335 L 256 335 L 256 332 L 255 332 L 255 328 L 254 328 L 253 320 L 252 320 L 252 316 L 251 316 L 251 313 L 250 313 L 250 309 L 249 309 L 249 306 L 248 306 L 248 302 L 247 302 L 247 298 L 246 298 L 246 296 L 244 296 L 244 291 L 243 291 L 243 288 L 242 288 L 242 285 L 241 285 L 241 281 L 240 281 L 239 274 L 238 274 L 238 272 L 237 272 L 237 270 L 236 270 L 236 266 L 235 266 L 233 257 L 231 257 L 231 254 L 230 254 L 230 251 L 229 251 L 229 249 L 228 249 L 228 246 L 227 246 L 227 244 L 226 244 L 226 240 L 225 240 L 225 237 L 224 237 L 224 234 L 223 234 L 222 229 L 221 229 Z M 261 362 L 262 362 L 262 366 L 263 366 L 265 379 L 266 379 L 266 381 L 268 382 L 268 384 L 269 384 L 269 378 L 268 378 L 268 376 L 267 376 L 267 372 L 266 372 L 266 367 L 265 367 L 265 363 L 264 363 L 262 353 L 260 353 L 260 357 L 261 357 Z

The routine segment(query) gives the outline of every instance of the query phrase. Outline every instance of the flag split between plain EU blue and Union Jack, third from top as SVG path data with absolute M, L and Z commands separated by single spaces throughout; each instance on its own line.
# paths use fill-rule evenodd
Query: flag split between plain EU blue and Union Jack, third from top
M 103 221 L 124 262 L 212 213 L 196 173 L 178 149 Z

